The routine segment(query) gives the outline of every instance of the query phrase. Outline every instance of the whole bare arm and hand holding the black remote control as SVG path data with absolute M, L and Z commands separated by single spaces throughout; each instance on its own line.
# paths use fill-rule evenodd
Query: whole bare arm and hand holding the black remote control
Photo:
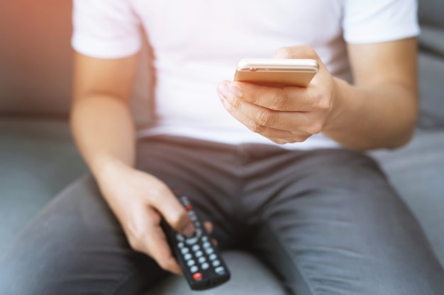
M 189 235 L 194 227 L 169 187 L 134 168 L 135 128 L 129 108 L 137 56 L 94 59 L 76 53 L 71 125 L 74 139 L 131 247 L 181 273 L 161 216 Z M 191 227 L 190 227 L 191 226 Z

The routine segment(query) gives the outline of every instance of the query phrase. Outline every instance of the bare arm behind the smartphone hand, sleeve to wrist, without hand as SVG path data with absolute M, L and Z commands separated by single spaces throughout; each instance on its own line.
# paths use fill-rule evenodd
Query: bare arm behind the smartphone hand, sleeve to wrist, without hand
M 348 45 L 355 84 L 338 83 L 338 108 L 323 133 L 350 149 L 406 144 L 418 113 L 416 39 Z

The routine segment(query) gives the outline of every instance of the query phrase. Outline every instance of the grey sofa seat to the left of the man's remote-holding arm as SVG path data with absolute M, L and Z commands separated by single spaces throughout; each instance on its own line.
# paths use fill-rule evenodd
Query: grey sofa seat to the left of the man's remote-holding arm
M 0 120 L 0 253 L 50 199 L 86 171 L 66 120 Z

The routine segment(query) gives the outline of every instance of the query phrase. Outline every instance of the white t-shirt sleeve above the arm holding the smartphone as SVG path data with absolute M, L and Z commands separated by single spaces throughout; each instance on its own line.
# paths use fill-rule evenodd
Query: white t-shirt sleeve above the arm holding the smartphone
M 400 40 L 419 34 L 416 0 L 345 0 L 343 33 L 349 43 Z

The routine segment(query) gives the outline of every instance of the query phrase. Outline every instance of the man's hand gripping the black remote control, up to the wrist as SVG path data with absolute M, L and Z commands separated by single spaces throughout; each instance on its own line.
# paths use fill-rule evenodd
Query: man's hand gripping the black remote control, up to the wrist
M 170 188 L 153 175 L 121 162 L 107 163 L 103 167 L 99 186 L 131 248 L 149 255 L 162 269 L 182 274 L 160 221 L 163 216 L 184 236 L 194 233 L 194 226 Z

